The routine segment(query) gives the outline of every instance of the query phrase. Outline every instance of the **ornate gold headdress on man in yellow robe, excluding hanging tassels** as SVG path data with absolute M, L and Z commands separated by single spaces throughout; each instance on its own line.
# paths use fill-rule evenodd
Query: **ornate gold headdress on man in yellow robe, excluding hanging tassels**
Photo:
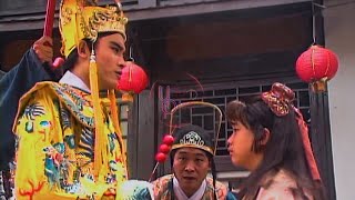
M 120 7 L 97 7 L 85 0 L 62 0 L 60 26 L 62 53 L 68 57 L 82 39 L 97 40 L 100 32 L 119 32 L 126 39 L 128 18 Z

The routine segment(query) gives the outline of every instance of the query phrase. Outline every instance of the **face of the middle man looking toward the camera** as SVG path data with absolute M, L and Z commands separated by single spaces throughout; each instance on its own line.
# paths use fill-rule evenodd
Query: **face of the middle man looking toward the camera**
M 192 196 L 201 187 L 210 170 L 210 161 L 203 150 L 181 148 L 173 162 L 174 174 L 186 196 Z

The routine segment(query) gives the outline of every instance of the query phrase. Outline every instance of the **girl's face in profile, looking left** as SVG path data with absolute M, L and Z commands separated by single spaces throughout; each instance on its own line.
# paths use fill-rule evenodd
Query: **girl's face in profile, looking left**
M 240 121 L 232 124 L 233 133 L 229 138 L 229 151 L 234 166 L 253 171 L 262 160 L 262 153 L 252 150 L 254 133 Z

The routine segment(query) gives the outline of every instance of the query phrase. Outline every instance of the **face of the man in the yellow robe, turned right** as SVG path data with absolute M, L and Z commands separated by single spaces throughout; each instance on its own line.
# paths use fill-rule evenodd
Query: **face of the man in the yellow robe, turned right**
M 100 38 L 95 48 L 100 89 L 115 89 L 124 67 L 124 39 L 120 33 Z

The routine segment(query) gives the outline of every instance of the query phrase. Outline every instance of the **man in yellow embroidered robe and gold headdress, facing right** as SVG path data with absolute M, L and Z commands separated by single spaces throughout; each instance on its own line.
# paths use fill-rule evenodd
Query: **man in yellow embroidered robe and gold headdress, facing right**
M 120 6 L 62 0 L 60 32 L 69 71 L 59 83 L 37 83 L 20 100 L 13 127 L 17 199 L 151 198 L 146 182 L 126 182 L 126 154 L 113 116 L 126 22 Z M 112 116 L 99 90 L 109 90 Z

